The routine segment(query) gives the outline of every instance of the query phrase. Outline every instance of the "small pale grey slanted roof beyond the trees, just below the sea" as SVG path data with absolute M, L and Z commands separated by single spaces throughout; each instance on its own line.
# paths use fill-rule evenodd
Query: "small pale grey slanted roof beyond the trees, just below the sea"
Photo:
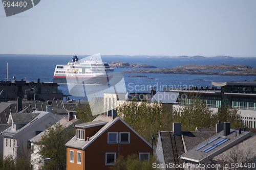
M 159 103 L 175 103 L 178 99 L 179 93 L 176 92 L 168 92 L 168 91 L 158 91 L 151 102 L 159 102 Z

